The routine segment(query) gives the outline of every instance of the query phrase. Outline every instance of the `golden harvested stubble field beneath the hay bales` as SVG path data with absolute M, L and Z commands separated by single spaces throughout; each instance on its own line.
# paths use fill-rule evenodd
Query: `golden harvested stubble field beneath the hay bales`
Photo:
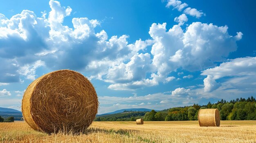
M 24 122 L 0 123 L 3 143 L 256 143 L 256 121 L 221 121 L 199 127 L 198 121 L 94 122 L 83 134 L 46 134 Z

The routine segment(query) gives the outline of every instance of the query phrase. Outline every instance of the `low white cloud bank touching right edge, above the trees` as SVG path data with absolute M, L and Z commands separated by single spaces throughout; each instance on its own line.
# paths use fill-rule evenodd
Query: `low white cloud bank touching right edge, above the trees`
M 236 88 L 239 90 L 253 90 L 256 85 L 256 57 L 243 57 L 230 59 L 214 68 L 202 71 L 201 75 L 207 75 L 204 79 L 204 91 L 211 92 L 220 85 L 222 88 Z M 216 80 L 226 78 L 223 83 Z

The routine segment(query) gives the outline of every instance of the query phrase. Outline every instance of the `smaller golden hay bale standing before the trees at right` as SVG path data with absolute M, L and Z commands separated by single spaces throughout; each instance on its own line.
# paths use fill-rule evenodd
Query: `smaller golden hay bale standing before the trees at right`
M 220 114 L 218 109 L 200 109 L 198 112 L 200 127 L 219 127 Z

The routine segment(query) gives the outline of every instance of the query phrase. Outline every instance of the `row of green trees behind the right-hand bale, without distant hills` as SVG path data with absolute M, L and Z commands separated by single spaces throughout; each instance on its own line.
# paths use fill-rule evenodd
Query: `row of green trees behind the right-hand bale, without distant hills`
M 256 100 L 254 97 L 248 99 L 240 98 L 231 100 L 218 101 L 217 103 L 200 106 L 194 104 L 193 106 L 170 108 L 167 112 L 159 111 L 147 112 L 144 116 L 145 121 L 186 121 L 198 120 L 198 111 L 200 109 L 218 109 L 221 120 L 256 120 Z

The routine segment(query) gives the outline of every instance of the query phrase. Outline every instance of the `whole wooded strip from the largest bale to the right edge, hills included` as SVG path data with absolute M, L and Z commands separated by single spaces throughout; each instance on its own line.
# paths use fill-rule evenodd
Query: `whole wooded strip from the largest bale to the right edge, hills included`
M 237 98 L 226 101 L 221 99 L 217 103 L 209 102 L 207 105 L 175 107 L 156 112 L 130 112 L 110 114 L 97 117 L 94 121 L 135 121 L 143 118 L 144 121 L 188 121 L 198 120 L 200 109 L 218 109 L 221 120 L 256 120 L 256 100 L 254 97 Z

